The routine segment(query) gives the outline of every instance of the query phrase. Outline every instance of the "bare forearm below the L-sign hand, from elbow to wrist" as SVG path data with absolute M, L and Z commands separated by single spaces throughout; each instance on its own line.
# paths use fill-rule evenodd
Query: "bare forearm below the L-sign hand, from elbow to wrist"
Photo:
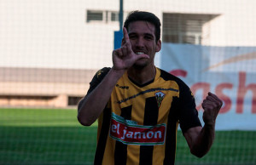
M 113 88 L 124 71 L 108 71 L 106 77 L 89 95 L 79 103 L 78 119 L 82 125 L 90 126 L 101 115 Z

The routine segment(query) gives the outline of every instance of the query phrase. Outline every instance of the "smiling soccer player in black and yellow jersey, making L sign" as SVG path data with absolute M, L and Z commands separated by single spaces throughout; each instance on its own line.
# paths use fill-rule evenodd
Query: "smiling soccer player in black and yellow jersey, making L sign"
M 123 32 L 113 67 L 97 71 L 79 102 L 82 125 L 98 119 L 95 164 L 174 164 L 178 123 L 191 153 L 207 154 L 222 101 L 208 93 L 202 127 L 189 87 L 154 65 L 161 49 L 160 20 L 135 11 Z

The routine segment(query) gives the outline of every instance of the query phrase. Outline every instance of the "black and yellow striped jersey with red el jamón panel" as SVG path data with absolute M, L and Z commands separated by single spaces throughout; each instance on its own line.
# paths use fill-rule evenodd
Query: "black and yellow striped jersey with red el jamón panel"
M 88 94 L 109 70 L 96 73 Z M 143 85 L 126 71 L 98 118 L 95 164 L 174 164 L 178 123 L 183 132 L 201 126 L 189 87 L 159 68 Z

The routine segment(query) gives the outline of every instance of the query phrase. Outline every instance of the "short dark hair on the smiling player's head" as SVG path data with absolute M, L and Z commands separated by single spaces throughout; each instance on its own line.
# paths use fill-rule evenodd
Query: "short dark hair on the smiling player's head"
M 155 42 L 160 40 L 160 20 L 157 16 L 152 13 L 145 12 L 145 11 L 132 11 L 126 18 L 124 27 L 128 31 L 128 26 L 131 22 L 144 20 L 154 25 L 154 35 L 155 35 Z

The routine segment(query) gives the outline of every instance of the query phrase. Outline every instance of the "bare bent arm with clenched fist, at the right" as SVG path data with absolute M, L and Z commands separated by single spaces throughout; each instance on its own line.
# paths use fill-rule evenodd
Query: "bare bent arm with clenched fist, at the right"
M 193 155 L 202 157 L 210 150 L 215 138 L 216 118 L 222 104 L 222 101 L 215 94 L 209 93 L 202 103 L 204 127 L 189 128 L 183 133 Z

